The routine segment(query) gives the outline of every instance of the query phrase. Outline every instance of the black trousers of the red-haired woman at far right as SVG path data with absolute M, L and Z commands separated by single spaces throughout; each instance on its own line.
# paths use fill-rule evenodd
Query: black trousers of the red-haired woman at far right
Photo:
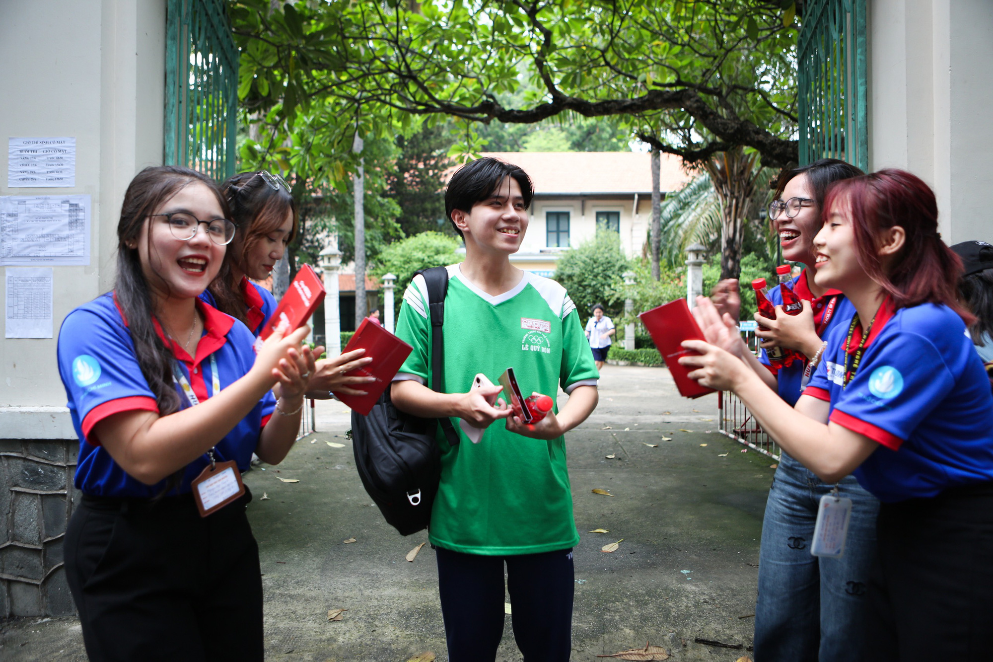
M 866 659 L 989 659 L 993 483 L 884 503 L 876 526 Z

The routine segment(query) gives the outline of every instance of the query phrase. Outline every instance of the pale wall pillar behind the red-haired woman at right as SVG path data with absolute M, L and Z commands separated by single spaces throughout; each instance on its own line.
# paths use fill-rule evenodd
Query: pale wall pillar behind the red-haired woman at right
M 868 4 L 870 169 L 927 182 L 947 244 L 993 242 L 993 2 Z

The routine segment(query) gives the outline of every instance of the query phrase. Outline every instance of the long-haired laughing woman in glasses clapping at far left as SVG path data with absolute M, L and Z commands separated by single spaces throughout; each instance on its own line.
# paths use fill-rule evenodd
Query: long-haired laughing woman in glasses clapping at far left
M 66 569 L 90 660 L 262 660 L 251 495 L 236 476 L 252 452 L 286 456 L 315 366 L 306 327 L 256 356 L 251 332 L 199 298 L 234 237 L 226 216 L 201 173 L 143 170 L 124 196 L 113 291 L 59 333 L 82 492 Z

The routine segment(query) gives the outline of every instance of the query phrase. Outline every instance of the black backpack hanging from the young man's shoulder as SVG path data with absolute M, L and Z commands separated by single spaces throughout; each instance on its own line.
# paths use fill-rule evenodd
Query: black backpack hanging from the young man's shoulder
M 417 273 L 424 276 L 428 286 L 431 388 L 443 393 L 441 326 L 448 270 L 435 266 Z M 352 413 L 352 447 L 355 467 L 365 491 L 386 522 L 401 535 L 409 536 L 431 523 L 431 507 L 441 478 L 441 453 L 435 440 L 437 426 L 441 424 L 453 446 L 459 443 L 459 433 L 448 416 L 420 418 L 400 412 L 390 402 L 389 392 L 390 389 L 383 392 L 368 415 Z

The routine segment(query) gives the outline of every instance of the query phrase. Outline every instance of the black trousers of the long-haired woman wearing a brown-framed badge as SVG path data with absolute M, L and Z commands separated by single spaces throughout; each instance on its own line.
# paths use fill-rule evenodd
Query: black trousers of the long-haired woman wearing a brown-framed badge
M 262 579 L 250 493 L 202 518 L 192 495 L 84 495 L 66 570 L 93 662 L 262 660 Z

